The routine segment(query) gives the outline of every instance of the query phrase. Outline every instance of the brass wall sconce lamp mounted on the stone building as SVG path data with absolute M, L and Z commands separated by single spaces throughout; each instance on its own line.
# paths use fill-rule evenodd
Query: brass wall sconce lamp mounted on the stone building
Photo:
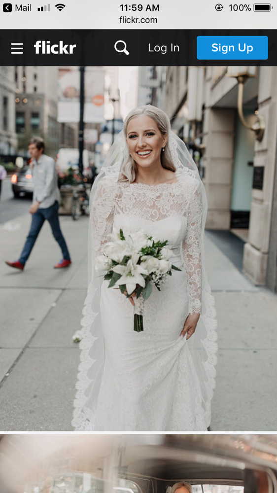
M 238 113 L 242 125 L 249 130 L 255 132 L 255 136 L 257 141 L 261 142 L 264 136 L 266 122 L 263 116 L 258 115 L 258 111 L 255 111 L 256 122 L 254 125 L 249 125 L 244 119 L 243 115 L 243 89 L 244 83 L 248 80 L 249 77 L 257 77 L 257 67 L 234 67 L 230 66 L 227 69 L 227 77 L 236 77 L 239 85 L 238 90 Z

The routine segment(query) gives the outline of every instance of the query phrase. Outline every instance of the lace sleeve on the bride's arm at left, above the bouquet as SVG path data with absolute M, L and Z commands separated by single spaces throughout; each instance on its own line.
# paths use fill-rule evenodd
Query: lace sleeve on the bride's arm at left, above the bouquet
M 115 183 L 102 178 L 92 204 L 93 249 L 95 255 L 103 254 L 103 246 L 109 241 L 108 235 L 113 224 L 113 198 Z

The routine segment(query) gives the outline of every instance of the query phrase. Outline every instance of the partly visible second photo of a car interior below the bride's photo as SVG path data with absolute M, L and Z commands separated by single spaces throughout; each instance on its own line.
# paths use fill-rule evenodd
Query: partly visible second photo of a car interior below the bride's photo
M 277 435 L 0 435 L 1 493 L 276 493 Z

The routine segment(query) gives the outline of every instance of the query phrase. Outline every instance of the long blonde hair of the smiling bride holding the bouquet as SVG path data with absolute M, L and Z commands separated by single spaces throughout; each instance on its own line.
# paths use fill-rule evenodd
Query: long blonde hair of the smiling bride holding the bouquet
M 133 118 L 136 118 L 137 116 L 140 115 L 145 115 L 152 118 L 152 120 L 154 120 L 154 122 L 157 124 L 157 127 L 161 132 L 161 134 L 163 136 L 169 135 L 170 119 L 168 115 L 161 109 L 157 108 L 156 106 L 146 105 L 146 106 L 138 106 L 137 108 L 132 109 L 132 111 L 130 111 L 130 113 L 125 118 L 123 125 L 123 134 L 125 139 L 127 138 L 127 127 L 129 122 Z M 165 150 L 161 152 L 162 167 L 165 168 L 166 170 L 175 172 L 176 168 L 173 164 L 168 142 L 164 147 L 164 149 Z M 134 161 L 132 156 L 129 155 L 123 162 L 118 181 L 129 181 L 129 183 L 133 183 L 133 181 L 135 181 L 136 179 L 136 173 L 137 173 L 136 162 Z

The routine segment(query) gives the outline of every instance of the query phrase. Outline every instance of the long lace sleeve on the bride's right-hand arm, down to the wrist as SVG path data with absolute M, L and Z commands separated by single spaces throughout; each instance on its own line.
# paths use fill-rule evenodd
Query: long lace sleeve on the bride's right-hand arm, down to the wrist
M 187 210 L 187 231 L 183 240 L 183 258 L 187 273 L 189 313 L 201 313 L 202 304 L 202 199 L 200 185 L 194 186 Z

